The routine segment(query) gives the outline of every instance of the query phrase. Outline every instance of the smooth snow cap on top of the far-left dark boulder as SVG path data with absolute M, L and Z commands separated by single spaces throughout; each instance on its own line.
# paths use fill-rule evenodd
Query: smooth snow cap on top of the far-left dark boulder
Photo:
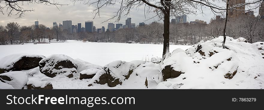
M 0 68 L 3 69 L 10 69 L 13 67 L 14 63 L 19 61 L 22 57 L 38 57 L 38 58 L 45 58 L 43 55 L 34 55 L 34 54 L 12 54 L 5 56 L 0 59 Z

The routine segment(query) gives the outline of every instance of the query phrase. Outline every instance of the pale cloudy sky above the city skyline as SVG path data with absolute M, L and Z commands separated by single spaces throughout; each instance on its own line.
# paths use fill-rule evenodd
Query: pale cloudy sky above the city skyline
M 94 21 L 94 26 L 96 28 L 101 28 L 102 26 L 107 28 L 107 23 L 102 23 L 107 20 L 111 16 L 113 16 L 113 12 L 118 8 L 116 7 L 102 7 L 100 11 L 100 18 L 97 16 L 93 19 L 94 14 L 92 10 L 95 7 L 89 7 L 82 3 L 73 4 L 70 0 L 55 0 L 61 4 L 69 4 L 68 6 L 58 7 L 59 10 L 55 6 L 45 6 L 43 4 L 24 4 L 23 7 L 25 9 L 35 9 L 35 11 L 25 13 L 24 17 L 17 18 L 17 16 L 8 17 L 7 14 L 0 15 L 0 25 L 5 26 L 9 22 L 18 22 L 20 26 L 30 26 L 34 24 L 34 21 L 39 21 L 39 24 L 45 24 L 47 27 L 52 27 L 52 22 L 57 22 L 57 24 L 61 23 L 65 20 L 72 20 L 72 24 L 76 25 L 77 23 L 82 23 L 82 27 L 84 27 L 85 21 Z M 1 4 L 2 5 L 2 4 Z M 258 13 L 258 10 L 253 10 Z M 203 8 L 204 14 L 200 14 L 199 10 L 197 10 L 197 15 L 187 15 L 187 21 L 194 21 L 195 19 L 200 19 L 207 21 L 209 23 L 210 19 L 215 15 L 209 10 L 208 7 Z M 255 14 L 257 15 L 257 14 Z M 131 13 L 128 16 L 123 16 L 119 23 L 125 25 L 125 19 L 132 18 L 131 23 L 136 23 L 138 25 L 140 22 L 145 21 L 146 19 L 155 16 L 155 14 L 146 15 L 144 17 L 144 7 L 140 7 L 138 9 L 131 9 Z M 171 18 L 172 19 L 172 18 Z M 152 21 L 157 21 L 158 18 L 152 18 L 148 21 L 145 21 L 146 24 L 151 23 Z M 117 24 L 118 22 L 113 22 Z

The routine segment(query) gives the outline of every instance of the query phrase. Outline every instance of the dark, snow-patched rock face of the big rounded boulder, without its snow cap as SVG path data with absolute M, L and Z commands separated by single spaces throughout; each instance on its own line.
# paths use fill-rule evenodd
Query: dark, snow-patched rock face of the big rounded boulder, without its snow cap
M 73 64 L 73 62 L 68 59 L 62 61 L 55 61 L 53 58 L 45 59 L 39 62 L 39 69 L 41 73 L 50 78 L 55 77 L 57 74 L 64 74 L 67 72 L 70 72 L 67 77 L 72 78 L 73 73 L 77 73 L 77 65 Z

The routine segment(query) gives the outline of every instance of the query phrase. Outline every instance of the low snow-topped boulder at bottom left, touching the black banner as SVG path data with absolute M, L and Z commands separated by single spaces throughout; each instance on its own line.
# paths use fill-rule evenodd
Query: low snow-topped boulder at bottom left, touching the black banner
M 39 80 L 29 80 L 27 87 L 28 89 L 53 89 L 51 82 Z

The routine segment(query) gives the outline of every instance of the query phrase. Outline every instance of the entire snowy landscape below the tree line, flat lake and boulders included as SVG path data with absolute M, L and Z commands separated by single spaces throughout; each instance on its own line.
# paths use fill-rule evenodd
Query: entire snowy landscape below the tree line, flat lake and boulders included
M 223 49 L 222 41 L 220 36 L 192 46 L 170 45 L 164 61 L 158 44 L 1 45 L 0 69 L 9 71 L 25 57 L 37 58 L 39 66 L 5 71 L 0 89 L 262 89 L 264 42 L 227 37 Z M 62 61 L 68 68 L 56 67 Z

